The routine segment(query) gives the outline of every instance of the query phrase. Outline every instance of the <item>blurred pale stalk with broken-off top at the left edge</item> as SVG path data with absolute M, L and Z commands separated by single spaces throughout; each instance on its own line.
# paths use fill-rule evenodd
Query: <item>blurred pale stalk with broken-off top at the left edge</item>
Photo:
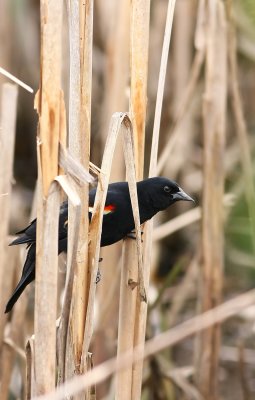
M 6 264 L 6 239 L 8 236 L 10 201 L 11 201 L 11 183 L 13 178 L 13 157 L 15 143 L 15 125 L 17 116 L 17 96 L 18 89 L 16 85 L 5 83 L 2 85 L 1 100 L 1 125 L 0 125 L 0 348 L 2 346 L 4 325 L 6 317 L 3 317 L 5 298 L 5 286 L 8 277 L 4 274 Z

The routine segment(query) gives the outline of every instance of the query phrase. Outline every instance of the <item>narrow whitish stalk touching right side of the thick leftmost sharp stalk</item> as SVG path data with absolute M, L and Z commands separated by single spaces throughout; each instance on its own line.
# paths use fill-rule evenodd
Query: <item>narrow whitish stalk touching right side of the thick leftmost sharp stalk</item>
M 69 75 L 69 131 L 68 131 L 68 147 L 71 155 L 79 157 L 79 137 L 80 137 L 80 16 L 79 16 L 79 0 L 68 1 L 68 22 L 69 22 L 69 48 L 70 48 L 70 75 Z M 67 275 L 70 275 L 70 269 L 73 267 L 73 296 L 72 306 L 69 316 L 69 326 L 66 343 L 66 360 L 65 360 L 65 377 L 68 379 L 73 376 L 73 372 L 79 371 L 80 349 L 82 345 L 82 335 L 84 328 L 85 308 L 84 296 L 85 290 L 82 290 L 81 302 L 83 306 L 79 309 L 75 307 L 79 302 L 79 290 L 77 287 L 77 255 L 71 260 L 72 249 L 71 240 L 75 235 L 75 209 L 68 202 L 68 251 L 67 251 Z M 78 245 L 77 245 L 78 248 Z M 74 266 L 71 265 L 74 262 Z M 82 279 L 84 284 L 84 279 Z

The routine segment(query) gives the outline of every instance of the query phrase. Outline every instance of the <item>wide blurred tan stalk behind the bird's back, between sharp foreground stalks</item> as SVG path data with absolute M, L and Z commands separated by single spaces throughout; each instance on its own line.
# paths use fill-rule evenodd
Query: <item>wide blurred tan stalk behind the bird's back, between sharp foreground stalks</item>
M 109 4 L 109 3 L 108 3 Z M 106 47 L 106 66 L 105 66 L 105 90 L 103 93 L 104 99 L 102 104 L 102 121 L 101 124 L 101 138 L 107 135 L 106 126 L 109 125 L 109 120 L 114 112 L 126 111 L 128 109 L 128 87 L 129 87 L 129 25 L 130 25 L 130 1 L 117 0 L 115 1 L 114 10 L 116 13 L 115 21 L 113 10 L 108 10 L 108 20 L 105 14 L 104 18 L 111 21 L 111 28 L 107 38 Z M 113 7 L 113 3 L 111 3 Z M 111 15 L 111 17 L 109 17 Z M 114 23 L 112 23 L 114 21 Z M 109 96 L 109 93 L 111 95 Z M 111 171 L 111 180 L 119 182 L 124 180 L 124 163 L 123 152 L 121 146 L 117 146 L 114 155 L 114 162 L 118 168 L 113 168 Z M 104 284 L 98 287 L 98 302 L 105 304 L 105 299 L 109 294 L 109 287 L 115 287 L 115 299 L 119 297 L 119 283 L 112 284 L 114 279 L 118 279 L 120 275 L 120 268 L 116 270 L 119 265 L 121 256 L 122 245 L 107 246 L 101 249 L 102 257 L 104 260 L 110 260 L 107 263 L 107 268 L 104 269 Z M 105 313 L 100 307 L 98 315 L 98 327 L 100 334 L 107 336 L 108 328 L 116 329 L 118 320 L 116 314 L 118 313 L 118 302 L 112 301 L 107 310 L 108 318 L 105 318 Z M 104 308 L 104 307 L 103 307 Z M 102 321 L 104 320 L 104 321 Z M 103 340 L 103 339 L 102 339 Z M 108 338 L 106 338 L 108 340 Z M 109 341 L 109 340 L 108 340 Z M 106 346 L 105 346 L 106 347 Z M 101 355 L 98 355 L 101 359 Z

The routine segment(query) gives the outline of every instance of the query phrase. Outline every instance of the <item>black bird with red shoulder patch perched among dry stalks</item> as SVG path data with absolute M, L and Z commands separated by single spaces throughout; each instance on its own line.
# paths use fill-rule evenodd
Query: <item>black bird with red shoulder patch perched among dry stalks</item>
M 96 189 L 89 192 L 89 210 L 95 200 Z M 158 211 L 165 210 L 179 200 L 192 201 L 177 183 L 166 178 L 149 178 L 137 183 L 137 195 L 140 212 L 140 222 L 151 219 Z M 91 217 L 91 212 L 89 213 Z M 65 201 L 59 214 L 59 248 L 58 253 L 67 251 L 68 207 Z M 131 207 L 127 182 L 111 183 L 108 187 L 101 246 L 109 246 L 125 238 L 134 229 L 134 218 Z M 27 243 L 28 253 L 23 267 L 21 279 L 6 305 L 5 312 L 11 311 L 25 287 L 35 279 L 35 250 L 36 250 L 36 220 L 24 230 L 10 246 Z

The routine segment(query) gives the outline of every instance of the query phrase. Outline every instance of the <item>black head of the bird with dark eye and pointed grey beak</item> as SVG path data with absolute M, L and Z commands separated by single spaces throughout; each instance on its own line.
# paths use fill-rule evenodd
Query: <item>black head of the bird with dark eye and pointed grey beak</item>
M 147 192 L 150 202 L 157 211 L 165 210 L 176 201 L 194 201 L 176 182 L 170 179 L 156 177 L 145 179 L 141 183 L 141 190 Z

